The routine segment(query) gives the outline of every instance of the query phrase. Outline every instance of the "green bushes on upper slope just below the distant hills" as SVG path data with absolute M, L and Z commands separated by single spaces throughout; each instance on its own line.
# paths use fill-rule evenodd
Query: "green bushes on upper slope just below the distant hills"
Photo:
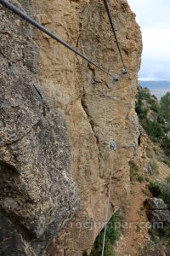
M 148 117 L 150 110 L 154 120 Z M 150 140 L 160 143 L 164 153 L 170 157 L 170 138 L 167 137 L 167 131 L 170 131 L 170 92 L 162 96 L 160 103 L 158 103 L 156 97 L 150 96 L 147 90 L 139 89 L 136 112 L 139 116 L 139 122 Z

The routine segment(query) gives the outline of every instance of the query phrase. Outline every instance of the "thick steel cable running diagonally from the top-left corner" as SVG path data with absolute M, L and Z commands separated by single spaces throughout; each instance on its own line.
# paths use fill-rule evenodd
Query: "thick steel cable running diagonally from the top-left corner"
M 95 64 L 94 61 L 91 61 L 90 59 L 88 59 L 88 57 L 86 55 L 83 55 L 81 52 L 77 51 L 77 49 L 74 49 L 70 44 L 65 43 L 63 40 L 61 40 L 60 38 L 55 36 L 53 32 L 50 32 L 47 28 L 45 28 L 44 26 L 37 23 L 36 20 L 33 20 L 29 15 L 26 15 L 25 13 L 23 13 L 20 9 L 15 7 L 14 4 L 9 3 L 7 0 L 0 0 L 0 3 L 2 3 L 3 6 L 6 7 L 7 9 L 13 11 L 16 15 L 19 15 L 22 19 L 29 22 L 32 26 L 37 27 L 37 29 L 39 29 L 40 31 L 47 34 L 50 38 L 53 38 L 59 44 L 64 45 L 67 49 L 70 49 L 72 52 L 74 52 L 75 54 L 82 57 L 82 59 L 84 59 L 85 61 L 88 61 L 88 63 L 94 65 L 94 67 L 99 68 L 99 70 L 101 70 L 102 72 L 111 76 L 111 78 L 113 79 L 113 75 L 111 75 L 111 73 L 108 73 L 103 67 L 99 67 L 99 65 Z

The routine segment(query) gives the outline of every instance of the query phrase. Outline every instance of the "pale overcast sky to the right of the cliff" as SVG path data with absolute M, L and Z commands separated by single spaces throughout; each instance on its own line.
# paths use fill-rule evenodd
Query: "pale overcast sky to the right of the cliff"
M 170 81 L 170 0 L 127 0 L 143 35 L 139 79 Z

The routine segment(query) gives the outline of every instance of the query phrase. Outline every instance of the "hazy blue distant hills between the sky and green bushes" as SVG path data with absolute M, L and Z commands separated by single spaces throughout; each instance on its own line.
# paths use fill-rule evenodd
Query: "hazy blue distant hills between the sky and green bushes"
M 151 94 L 159 99 L 164 96 L 167 91 L 170 91 L 170 81 L 139 81 L 142 87 L 150 89 Z

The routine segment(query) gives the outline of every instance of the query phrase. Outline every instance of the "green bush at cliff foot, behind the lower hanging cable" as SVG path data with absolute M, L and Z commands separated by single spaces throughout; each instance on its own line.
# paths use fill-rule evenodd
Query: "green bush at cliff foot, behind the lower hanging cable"
M 104 238 L 104 230 L 101 230 L 99 235 L 96 237 L 94 247 L 90 254 L 86 253 L 87 256 L 99 256 L 102 253 L 102 245 Z M 113 245 L 118 240 L 119 234 L 116 230 L 116 215 L 113 215 L 107 225 L 106 236 L 105 236 L 105 256 L 114 256 Z

